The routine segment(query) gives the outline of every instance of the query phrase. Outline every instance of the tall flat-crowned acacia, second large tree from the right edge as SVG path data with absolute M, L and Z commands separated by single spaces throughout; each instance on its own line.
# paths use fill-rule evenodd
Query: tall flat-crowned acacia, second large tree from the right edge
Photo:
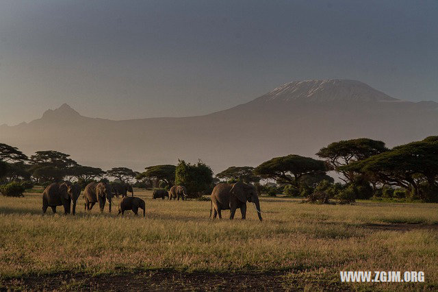
M 355 180 L 355 173 L 341 167 L 350 164 L 350 162 L 364 160 L 387 150 L 385 143 L 382 141 L 358 138 L 331 143 L 329 146 L 320 149 L 316 155 L 324 158 L 330 170 L 342 173 L 345 179 L 341 178 L 341 180 L 353 182 Z

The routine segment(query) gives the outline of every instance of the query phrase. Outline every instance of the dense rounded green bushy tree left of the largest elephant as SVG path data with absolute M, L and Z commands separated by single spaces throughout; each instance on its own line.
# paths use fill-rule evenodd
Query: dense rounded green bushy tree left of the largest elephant
M 190 197 L 199 197 L 209 193 L 213 182 L 213 171 L 201 160 L 192 165 L 184 160 L 179 160 L 175 169 L 175 184 L 187 188 Z

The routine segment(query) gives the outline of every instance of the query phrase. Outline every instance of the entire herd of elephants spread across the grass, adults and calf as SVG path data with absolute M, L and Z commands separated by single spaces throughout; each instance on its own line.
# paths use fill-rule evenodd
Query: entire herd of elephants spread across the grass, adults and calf
M 105 182 L 92 182 L 88 184 L 83 192 L 85 199 L 85 210 L 91 210 L 94 204 L 99 202 L 99 208 L 103 212 L 105 202 L 108 202 L 108 209 L 111 212 L 112 197 L 116 192 L 122 195 L 118 204 L 118 214 L 124 214 L 126 210 L 132 210 L 138 215 L 138 209 L 143 210 L 143 217 L 146 215 L 146 207 L 143 199 L 133 197 L 132 187 L 120 188 L 115 190 L 111 184 Z M 127 191 L 132 193 L 131 197 L 127 196 Z M 51 207 L 56 212 L 56 206 L 64 206 L 64 214 L 70 214 L 70 207 L 73 204 L 73 215 L 76 211 L 76 203 L 81 193 L 79 184 L 71 182 L 53 183 L 47 186 L 42 193 L 42 212 L 46 212 Z M 185 186 L 172 186 L 170 191 L 156 190 L 153 192 L 153 199 L 168 197 L 168 199 L 187 199 L 187 189 Z M 236 182 L 235 184 L 218 184 L 211 192 L 210 218 L 222 219 L 222 210 L 230 210 L 230 219 L 234 219 L 237 209 L 240 209 L 242 219 L 246 218 L 246 202 L 255 204 L 259 220 L 262 221 L 259 197 L 255 186 Z

